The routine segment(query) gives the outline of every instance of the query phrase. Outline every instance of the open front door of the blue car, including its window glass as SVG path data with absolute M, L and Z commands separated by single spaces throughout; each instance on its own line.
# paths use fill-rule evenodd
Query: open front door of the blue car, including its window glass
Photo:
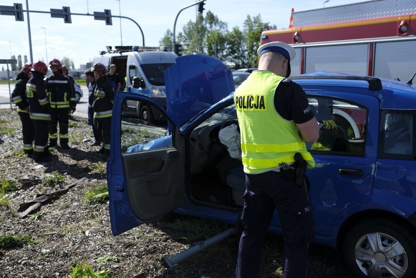
M 113 235 L 168 213 L 183 203 L 184 155 L 173 146 L 166 127 L 123 117 L 126 100 L 156 107 L 180 132 L 166 110 L 152 99 L 117 92 L 111 122 L 111 154 L 107 162 L 109 211 Z M 173 135 L 174 136 L 174 135 Z

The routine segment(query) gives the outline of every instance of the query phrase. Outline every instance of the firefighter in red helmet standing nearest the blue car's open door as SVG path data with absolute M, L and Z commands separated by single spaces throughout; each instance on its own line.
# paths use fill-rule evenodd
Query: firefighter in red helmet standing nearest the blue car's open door
M 109 155 L 110 153 L 110 128 L 111 116 L 114 101 L 114 89 L 106 76 L 104 64 L 94 64 L 91 68 L 94 71 L 96 87 L 94 90 L 94 125 L 97 128 L 98 136 L 102 147 L 98 151 Z

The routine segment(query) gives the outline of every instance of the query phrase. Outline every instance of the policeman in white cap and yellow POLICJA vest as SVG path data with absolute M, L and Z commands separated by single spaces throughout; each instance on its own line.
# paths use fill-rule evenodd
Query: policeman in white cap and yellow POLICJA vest
M 318 139 L 318 124 L 306 93 L 287 79 L 294 49 L 272 42 L 257 53 L 258 70 L 234 95 L 246 173 L 236 277 L 257 277 L 264 236 L 277 208 L 284 240 L 283 277 L 305 278 L 314 223 L 309 183 L 301 170 L 314 167 L 305 141 Z

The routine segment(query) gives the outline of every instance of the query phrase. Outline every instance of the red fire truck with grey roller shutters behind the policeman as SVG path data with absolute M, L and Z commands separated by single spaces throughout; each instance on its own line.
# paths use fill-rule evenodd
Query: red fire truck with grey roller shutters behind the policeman
M 276 41 L 296 51 L 292 76 L 325 70 L 407 82 L 416 72 L 416 1 L 292 9 L 289 28 L 263 27 L 260 45 Z

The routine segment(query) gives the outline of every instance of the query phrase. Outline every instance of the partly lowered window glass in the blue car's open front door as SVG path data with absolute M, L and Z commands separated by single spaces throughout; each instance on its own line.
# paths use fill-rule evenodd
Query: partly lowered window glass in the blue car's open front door
M 158 126 L 139 119 L 123 117 L 121 123 L 121 152 L 157 150 L 172 146 L 166 124 Z

